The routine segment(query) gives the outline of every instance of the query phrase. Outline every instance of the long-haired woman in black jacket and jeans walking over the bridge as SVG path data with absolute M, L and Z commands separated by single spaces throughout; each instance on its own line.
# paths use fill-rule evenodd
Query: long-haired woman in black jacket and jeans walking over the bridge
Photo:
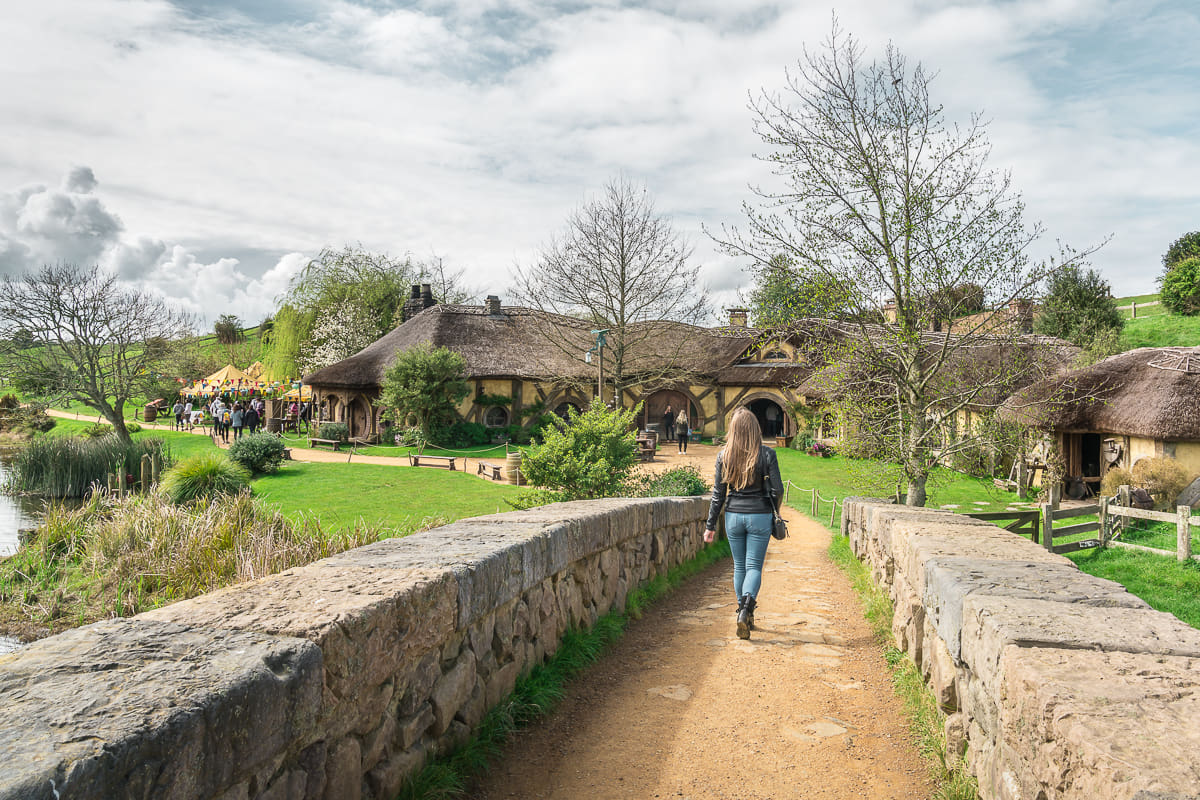
M 770 482 L 769 488 L 768 483 Z M 774 503 L 772 501 L 774 497 Z M 784 497 L 775 451 L 762 444 L 758 420 L 748 408 L 733 413 L 730 438 L 716 455 L 713 503 L 704 541 L 716 539 L 716 515 L 725 506 L 725 535 L 733 552 L 733 594 L 738 599 L 738 638 L 749 639 L 762 587 L 762 563 Z

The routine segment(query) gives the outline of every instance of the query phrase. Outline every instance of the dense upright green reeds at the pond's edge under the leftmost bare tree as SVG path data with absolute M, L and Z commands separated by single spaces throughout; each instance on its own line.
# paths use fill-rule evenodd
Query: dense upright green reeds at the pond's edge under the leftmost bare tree
M 108 475 L 138 475 L 142 456 L 150 455 L 166 467 L 170 450 L 162 439 L 144 437 L 122 441 L 108 434 L 83 437 L 37 437 L 17 453 L 8 489 L 49 498 L 82 498 L 92 486 L 104 486 Z

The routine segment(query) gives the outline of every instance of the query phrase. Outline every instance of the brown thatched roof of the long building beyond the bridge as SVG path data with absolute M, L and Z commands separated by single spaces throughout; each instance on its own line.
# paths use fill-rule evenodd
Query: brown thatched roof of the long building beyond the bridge
M 532 380 L 595 378 L 596 365 L 583 359 L 595 343 L 587 321 L 529 308 L 506 307 L 490 315 L 482 306 L 438 305 L 426 308 L 349 359 L 305 375 L 304 383 L 342 389 L 374 389 L 396 354 L 430 343 L 467 362 L 467 378 Z M 626 374 L 660 371 L 715 375 L 754 341 L 745 329 L 706 329 L 680 323 L 640 323 Z M 605 361 L 608 362 L 610 353 Z

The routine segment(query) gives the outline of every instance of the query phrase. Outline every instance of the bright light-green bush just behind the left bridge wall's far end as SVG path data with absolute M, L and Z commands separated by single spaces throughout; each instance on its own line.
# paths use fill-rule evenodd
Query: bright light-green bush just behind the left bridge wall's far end
M 638 409 L 608 409 L 599 398 L 568 421 L 554 419 L 521 471 L 558 500 L 613 497 L 622 492 L 637 461 L 635 422 Z

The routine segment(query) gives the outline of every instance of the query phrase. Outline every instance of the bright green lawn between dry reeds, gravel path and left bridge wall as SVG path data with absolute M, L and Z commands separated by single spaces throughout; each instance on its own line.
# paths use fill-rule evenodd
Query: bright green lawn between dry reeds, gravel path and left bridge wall
M 508 511 L 523 489 L 440 469 L 287 462 L 253 483 L 254 497 L 332 528 L 361 519 L 400 531 Z

